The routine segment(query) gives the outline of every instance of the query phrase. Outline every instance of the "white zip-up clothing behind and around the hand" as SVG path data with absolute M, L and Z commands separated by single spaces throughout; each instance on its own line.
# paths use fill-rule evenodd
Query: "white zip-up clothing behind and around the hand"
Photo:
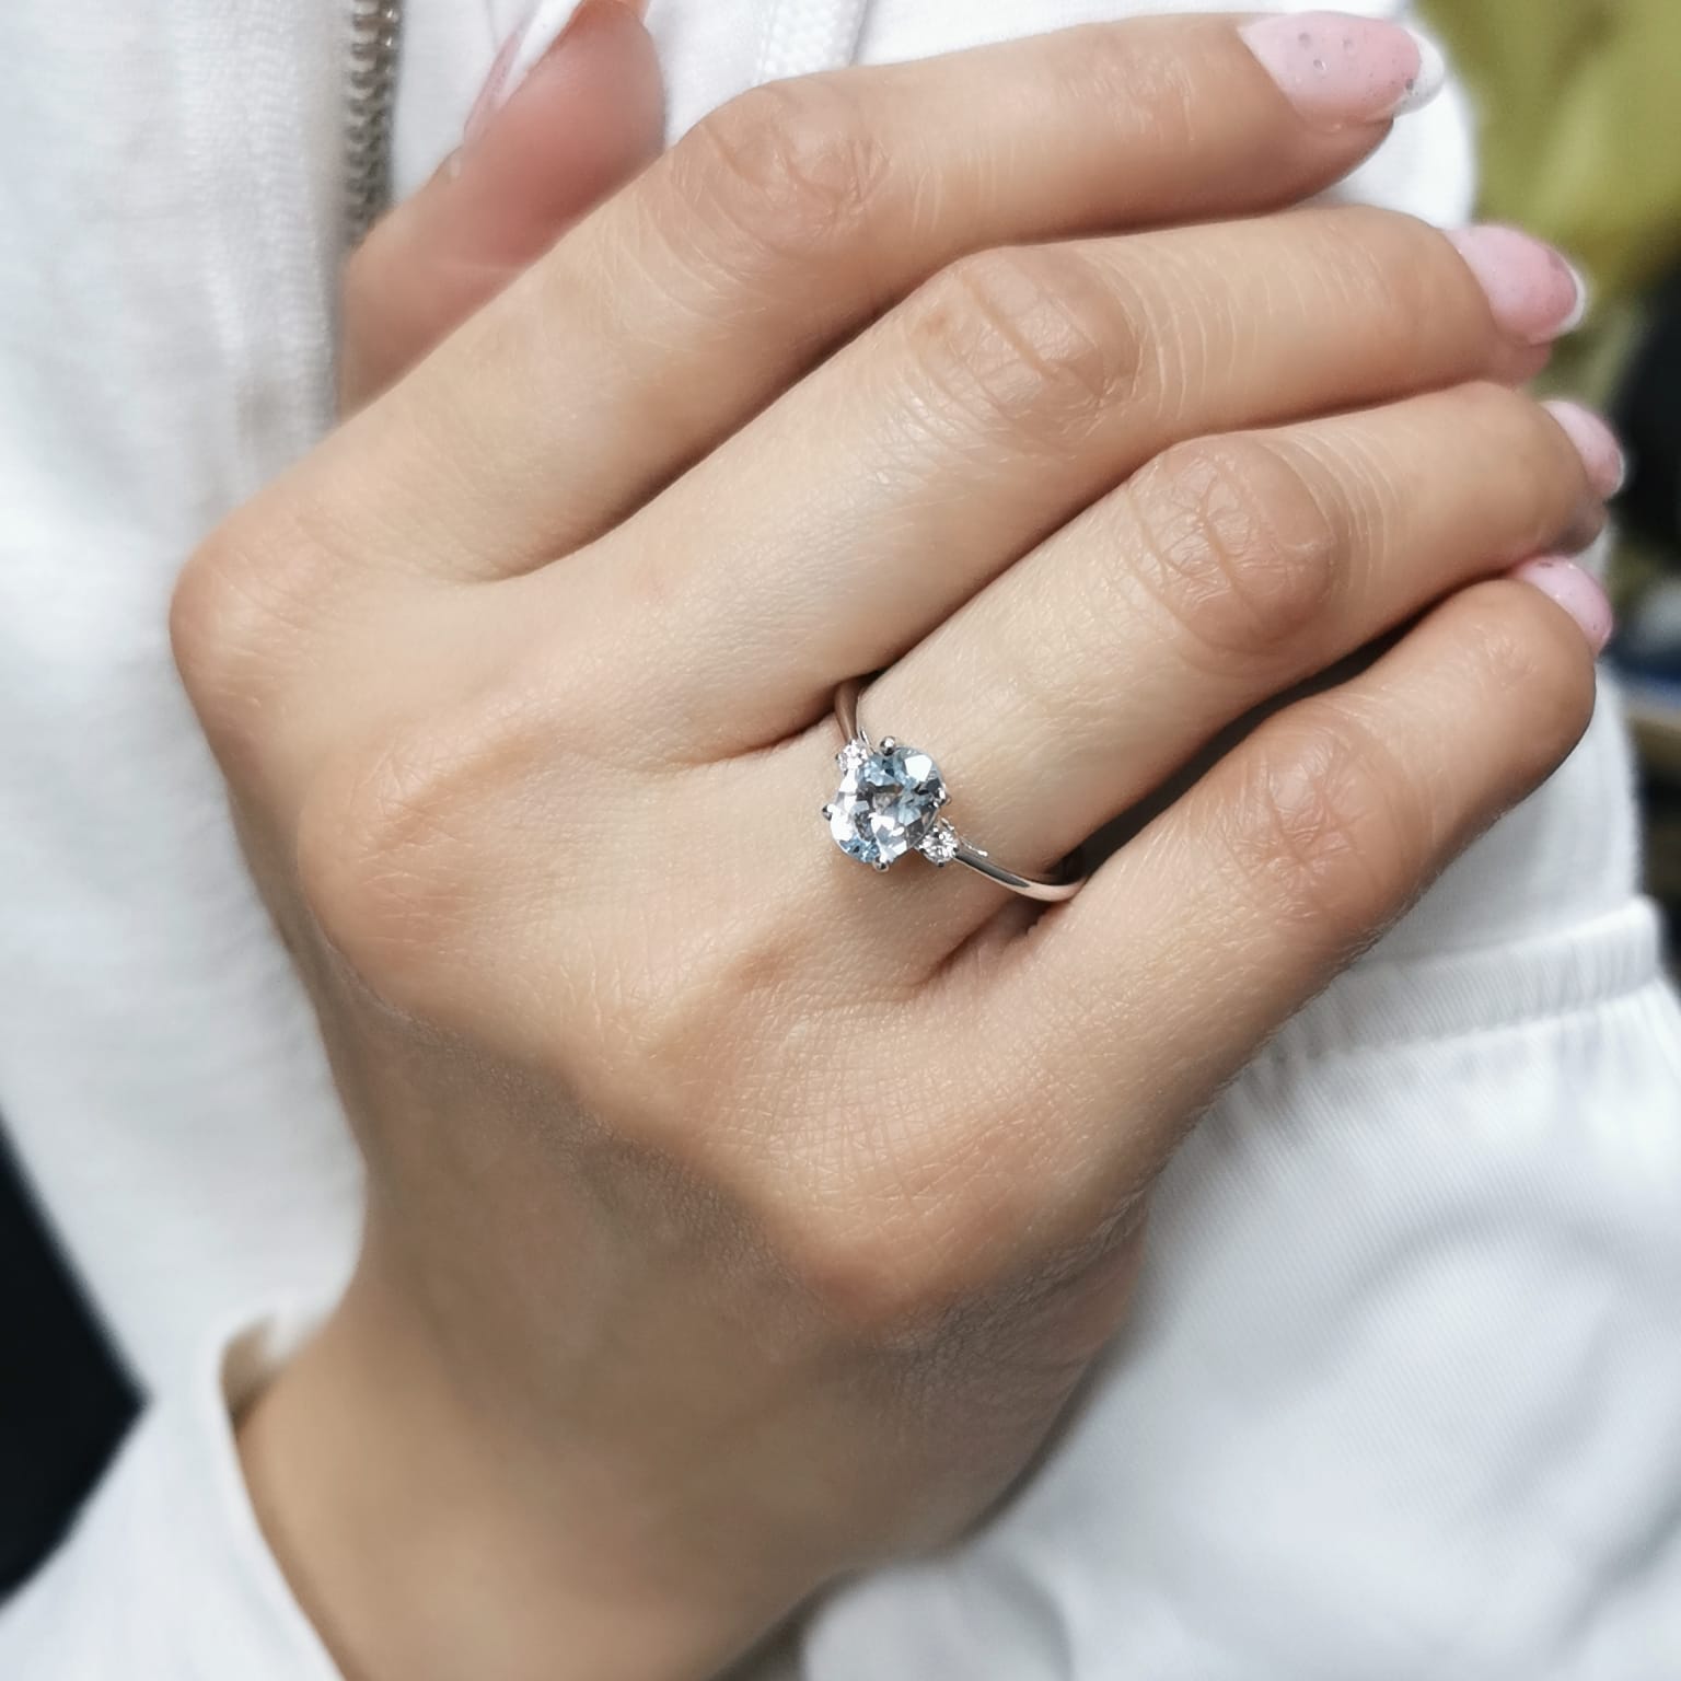
M 408 0 L 403 188 L 516 10 Z M 849 45 L 1125 10 L 654 0 L 651 25 L 676 133 Z M 227 1326 L 331 1301 L 358 1168 L 163 614 L 195 536 L 328 422 L 343 34 L 341 0 L 0 8 L 0 1111 L 156 1397 L 0 1612 L 7 1678 L 333 1678 L 215 1373 Z M 1468 131 L 1451 96 L 1360 190 L 1461 219 Z M 1681 1674 L 1681 1017 L 1634 881 L 1604 704 L 1194 1136 L 1140 1309 L 1024 1493 L 837 1594 L 788 1666 Z

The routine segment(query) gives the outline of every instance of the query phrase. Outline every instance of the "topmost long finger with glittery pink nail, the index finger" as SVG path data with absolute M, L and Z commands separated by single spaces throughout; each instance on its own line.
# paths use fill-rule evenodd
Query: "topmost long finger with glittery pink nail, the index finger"
M 1084 25 L 755 89 L 467 323 L 340 459 L 358 493 L 385 486 L 378 528 L 407 565 L 528 570 L 953 259 L 1294 202 L 1358 163 L 1420 77 L 1405 29 L 1316 13 Z

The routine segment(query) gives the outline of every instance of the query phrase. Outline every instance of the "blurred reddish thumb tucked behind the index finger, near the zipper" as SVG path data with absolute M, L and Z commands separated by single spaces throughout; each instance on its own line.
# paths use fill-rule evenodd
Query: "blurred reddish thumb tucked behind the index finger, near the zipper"
M 461 150 L 345 269 L 340 402 L 377 397 L 661 146 L 646 0 L 540 0 L 508 39 Z

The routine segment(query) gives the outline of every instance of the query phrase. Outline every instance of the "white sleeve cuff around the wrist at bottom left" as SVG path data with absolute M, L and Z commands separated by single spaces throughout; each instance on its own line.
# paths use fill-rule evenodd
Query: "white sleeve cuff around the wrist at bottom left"
M 0 1674 L 341 1681 L 262 1538 L 234 1444 L 234 1417 L 308 1328 L 245 1318 L 146 1409 L 71 1535 L 0 1610 Z

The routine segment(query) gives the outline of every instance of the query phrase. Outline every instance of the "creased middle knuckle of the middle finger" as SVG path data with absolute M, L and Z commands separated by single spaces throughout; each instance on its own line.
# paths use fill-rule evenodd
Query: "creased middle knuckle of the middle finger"
M 1061 457 L 1136 382 L 1143 306 L 1074 247 L 977 252 L 904 311 L 914 378 L 946 424 Z

